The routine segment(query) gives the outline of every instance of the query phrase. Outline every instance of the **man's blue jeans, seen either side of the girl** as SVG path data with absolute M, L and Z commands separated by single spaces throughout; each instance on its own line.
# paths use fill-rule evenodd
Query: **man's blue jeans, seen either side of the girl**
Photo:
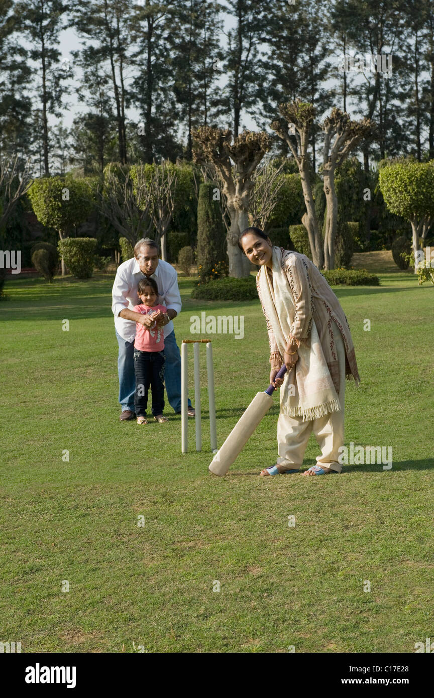
M 115 330 L 116 332 L 116 330 Z M 119 355 L 117 359 L 117 371 L 119 374 L 119 403 L 122 412 L 130 410 L 134 412 L 135 394 L 135 373 L 134 373 L 134 341 L 127 342 L 116 332 L 117 343 L 119 344 Z M 181 412 L 181 354 L 177 346 L 175 333 L 165 337 L 164 340 L 164 383 L 167 400 L 174 412 Z M 188 399 L 188 407 L 191 407 Z

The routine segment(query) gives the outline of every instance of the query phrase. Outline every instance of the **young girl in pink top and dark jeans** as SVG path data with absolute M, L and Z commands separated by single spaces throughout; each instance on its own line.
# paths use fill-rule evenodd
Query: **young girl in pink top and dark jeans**
M 140 279 L 137 285 L 137 295 L 142 305 L 135 306 L 133 311 L 141 315 L 164 315 L 167 308 L 158 304 L 158 287 L 154 279 Z M 137 424 L 148 424 L 146 410 L 148 404 L 149 386 L 152 394 L 152 414 L 156 422 L 167 422 L 163 417 L 164 409 L 164 334 L 163 327 L 158 327 L 156 321 L 151 327 L 136 322 L 134 342 L 135 396 L 134 408 Z

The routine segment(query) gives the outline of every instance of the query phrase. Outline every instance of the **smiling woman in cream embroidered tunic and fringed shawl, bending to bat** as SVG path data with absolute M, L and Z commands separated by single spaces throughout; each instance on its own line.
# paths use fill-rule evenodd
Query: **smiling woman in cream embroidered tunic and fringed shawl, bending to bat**
M 359 383 L 350 327 L 336 295 L 306 255 L 247 228 L 239 247 L 260 267 L 257 292 L 267 322 L 270 381 L 280 386 L 278 459 L 261 475 L 299 473 L 310 433 L 321 455 L 304 475 L 341 473 L 345 378 Z M 285 363 L 285 378 L 276 373 Z

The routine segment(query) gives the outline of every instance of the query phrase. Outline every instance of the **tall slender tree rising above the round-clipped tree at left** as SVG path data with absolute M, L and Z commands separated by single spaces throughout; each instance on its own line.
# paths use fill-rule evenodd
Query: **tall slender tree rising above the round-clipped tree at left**
M 69 71 L 59 65 L 59 35 L 65 27 L 64 15 L 68 9 L 62 0 L 35 0 L 34 3 L 17 3 L 20 29 L 29 40 L 29 57 L 35 64 L 38 76 L 36 96 L 40 103 L 40 126 L 42 129 L 43 166 L 45 177 L 50 176 L 50 138 L 48 117 L 61 116 L 62 96 L 66 88 L 62 81 Z

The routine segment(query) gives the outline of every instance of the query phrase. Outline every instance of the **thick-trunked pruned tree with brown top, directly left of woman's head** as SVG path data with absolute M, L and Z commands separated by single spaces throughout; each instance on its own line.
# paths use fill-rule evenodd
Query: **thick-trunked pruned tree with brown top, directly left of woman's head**
M 240 232 L 250 225 L 248 211 L 253 175 L 270 145 L 270 138 L 264 131 L 243 131 L 233 141 L 228 128 L 202 126 L 193 131 L 193 159 L 199 165 L 214 163 L 226 198 L 230 216 L 226 236 L 229 274 L 237 278 L 248 276 L 250 270 L 237 243 Z

